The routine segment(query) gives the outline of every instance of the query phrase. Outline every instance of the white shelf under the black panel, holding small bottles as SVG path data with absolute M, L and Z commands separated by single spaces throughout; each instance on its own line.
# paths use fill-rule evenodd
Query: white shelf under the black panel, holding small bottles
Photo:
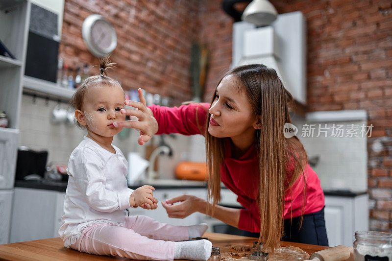
M 25 91 L 26 89 L 63 99 L 70 99 L 75 92 L 75 90 L 61 87 L 56 83 L 25 75 L 23 76 L 23 90 Z

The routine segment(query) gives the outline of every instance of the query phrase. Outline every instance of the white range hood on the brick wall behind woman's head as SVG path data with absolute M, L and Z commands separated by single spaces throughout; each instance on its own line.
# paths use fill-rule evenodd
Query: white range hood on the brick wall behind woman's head
M 306 28 L 301 12 L 280 14 L 269 26 L 233 24 L 231 67 L 258 63 L 275 69 L 294 99 L 306 104 Z

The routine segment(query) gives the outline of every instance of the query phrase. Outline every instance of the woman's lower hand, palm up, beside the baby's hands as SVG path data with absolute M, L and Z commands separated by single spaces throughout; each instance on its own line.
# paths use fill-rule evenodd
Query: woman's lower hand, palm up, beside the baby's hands
M 193 195 L 180 195 L 167 199 L 165 202 L 161 202 L 162 206 L 166 209 L 169 217 L 175 218 L 185 218 L 190 214 L 199 211 L 202 199 Z M 181 202 L 180 204 L 173 205 L 176 202 Z

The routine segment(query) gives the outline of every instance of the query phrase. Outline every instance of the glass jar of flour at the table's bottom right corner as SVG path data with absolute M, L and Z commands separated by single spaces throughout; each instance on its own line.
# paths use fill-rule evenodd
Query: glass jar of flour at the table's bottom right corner
M 392 234 L 357 231 L 354 241 L 355 261 L 392 261 Z

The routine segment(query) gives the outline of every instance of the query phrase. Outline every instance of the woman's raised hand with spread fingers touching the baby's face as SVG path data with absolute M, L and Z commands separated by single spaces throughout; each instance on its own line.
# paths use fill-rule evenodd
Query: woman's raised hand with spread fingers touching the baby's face
M 114 122 L 113 125 L 116 127 L 128 127 L 139 130 L 138 143 L 143 145 L 144 142 L 148 142 L 151 137 L 158 131 L 158 122 L 154 118 L 154 114 L 151 109 L 147 108 L 146 99 L 143 96 L 142 89 L 138 90 L 139 99 L 138 101 L 126 100 L 125 105 L 129 105 L 136 109 L 121 109 L 121 113 L 125 115 L 135 116 L 138 120 L 125 120 Z

